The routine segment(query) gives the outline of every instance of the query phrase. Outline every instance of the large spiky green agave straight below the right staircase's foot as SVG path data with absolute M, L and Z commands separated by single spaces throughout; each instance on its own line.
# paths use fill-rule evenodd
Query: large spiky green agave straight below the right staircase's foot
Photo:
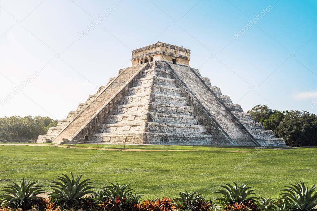
M 232 181 L 233 182 L 233 181 Z M 252 186 L 247 186 L 245 183 L 238 185 L 233 182 L 234 185 L 226 183 L 226 185 L 220 185 L 224 190 L 218 190 L 216 193 L 221 193 L 223 196 L 218 198 L 220 202 L 236 204 L 236 203 L 246 203 L 253 201 L 256 197 L 250 196 L 254 194 L 255 189 Z

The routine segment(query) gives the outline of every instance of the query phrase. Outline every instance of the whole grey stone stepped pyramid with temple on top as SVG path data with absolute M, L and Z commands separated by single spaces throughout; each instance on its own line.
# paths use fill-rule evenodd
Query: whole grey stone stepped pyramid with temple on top
M 131 67 L 37 142 L 286 146 L 189 61 L 189 49 L 163 42 L 132 51 Z

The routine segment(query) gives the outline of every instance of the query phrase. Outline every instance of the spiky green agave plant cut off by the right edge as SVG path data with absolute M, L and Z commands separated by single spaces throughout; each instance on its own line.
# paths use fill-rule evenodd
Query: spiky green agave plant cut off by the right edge
M 285 186 L 287 189 L 283 189 L 283 191 L 286 192 L 280 194 L 290 210 L 310 210 L 317 206 L 316 184 L 311 188 L 305 186 L 302 181 L 290 185 Z

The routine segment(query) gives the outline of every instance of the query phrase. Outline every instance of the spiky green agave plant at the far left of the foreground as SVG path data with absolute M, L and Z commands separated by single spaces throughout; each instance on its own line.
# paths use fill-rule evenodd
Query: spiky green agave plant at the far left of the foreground
M 29 209 L 39 202 L 40 197 L 36 195 L 44 193 L 44 190 L 41 189 L 42 185 L 36 185 L 37 182 L 31 183 L 31 180 L 27 181 L 23 178 L 20 184 L 12 183 L 13 185 L 9 185 L 2 190 L 5 195 L 1 196 L 3 198 L 2 202 L 10 207 Z

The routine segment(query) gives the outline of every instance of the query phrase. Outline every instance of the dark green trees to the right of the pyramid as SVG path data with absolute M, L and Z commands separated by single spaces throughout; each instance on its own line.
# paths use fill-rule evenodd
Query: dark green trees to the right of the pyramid
M 278 138 L 290 145 L 317 145 L 317 116 L 307 111 L 272 110 L 256 105 L 248 111 L 266 130 L 273 130 Z

